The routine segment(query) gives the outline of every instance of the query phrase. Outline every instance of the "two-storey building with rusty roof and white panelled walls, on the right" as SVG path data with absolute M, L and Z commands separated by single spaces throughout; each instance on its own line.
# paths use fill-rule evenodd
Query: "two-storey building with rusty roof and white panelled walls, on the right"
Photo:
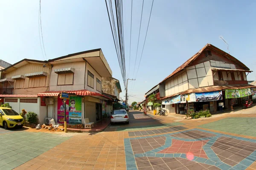
M 235 57 L 207 44 L 159 83 L 160 98 L 169 113 L 230 108 L 230 98 L 241 104 L 242 97 L 251 95 L 255 86 L 248 85 L 250 72 Z

